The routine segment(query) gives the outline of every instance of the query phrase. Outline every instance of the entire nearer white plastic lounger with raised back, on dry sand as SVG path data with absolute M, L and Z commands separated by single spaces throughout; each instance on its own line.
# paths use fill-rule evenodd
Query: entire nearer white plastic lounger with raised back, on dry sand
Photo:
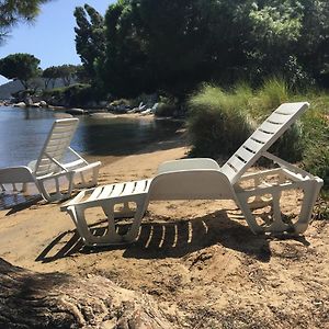
M 150 201 L 169 200 L 234 200 L 240 207 L 250 229 L 259 232 L 306 230 L 313 206 L 322 185 L 322 180 L 266 152 L 268 148 L 308 107 L 308 103 L 286 103 L 277 107 L 261 126 L 243 143 L 232 157 L 222 167 L 206 158 L 168 161 L 159 166 L 154 179 L 116 183 L 81 191 L 72 201 L 61 207 L 67 211 L 87 246 L 104 246 L 132 242 L 138 237 L 140 223 Z M 280 168 L 257 173 L 246 171 L 264 156 Z M 271 182 L 273 175 L 276 182 Z M 266 178 L 270 182 L 266 182 Z M 246 182 L 251 188 L 243 188 Z M 300 214 L 295 223 L 284 223 L 280 208 L 283 191 L 300 189 L 304 192 Z M 262 196 L 271 195 L 270 201 Z M 249 202 L 252 198 L 252 202 Z M 136 204 L 129 230 L 120 235 L 115 218 L 129 213 L 129 203 Z M 115 212 L 116 204 L 124 204 Z M 272 206 L 270 223 L 261 225 L 252 214 L 252 208 Z M 103 236 L 95 236 L 88 226 L 86 211 L 101 207 L 107 217 L 109 227 Z

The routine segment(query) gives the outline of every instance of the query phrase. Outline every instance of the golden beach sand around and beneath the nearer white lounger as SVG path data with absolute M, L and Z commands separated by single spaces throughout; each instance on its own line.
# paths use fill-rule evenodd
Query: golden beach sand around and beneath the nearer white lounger
M 183 140 L 104 158 L 100 184 L 151 177 Z M 295 205 L 295 196 L 286 203 Z M 0 211 L 0 257 L 38 272 L 105 276 L 151 295 L 177 328 L 329 328 L 329 229 L 254 236 L 232 202 L 157 202 L 128 246 L 83 248 L 58 204 Z

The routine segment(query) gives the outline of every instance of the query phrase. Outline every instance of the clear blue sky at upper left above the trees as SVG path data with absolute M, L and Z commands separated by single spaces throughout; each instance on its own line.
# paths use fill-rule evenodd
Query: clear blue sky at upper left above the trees
M 10 54 L 27 53 L 41 60 L 43 69 L 63 64 L 80 64 L 76 53 L 73 10 L 90 4 L 101 14 L 115 0 L 53 0 L 41 8 L 32 24 L 20 23 L 5 44 L 0 46 L 0 58 Z M 0 76 L 0 84 L 8 80 Z

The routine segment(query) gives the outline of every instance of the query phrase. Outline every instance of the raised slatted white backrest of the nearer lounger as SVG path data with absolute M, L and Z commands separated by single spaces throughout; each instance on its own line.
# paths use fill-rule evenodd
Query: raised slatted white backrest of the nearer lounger
M 220 168 L 230 183 L 236 183 L 308 106 L 306 102 L 280 105 Z

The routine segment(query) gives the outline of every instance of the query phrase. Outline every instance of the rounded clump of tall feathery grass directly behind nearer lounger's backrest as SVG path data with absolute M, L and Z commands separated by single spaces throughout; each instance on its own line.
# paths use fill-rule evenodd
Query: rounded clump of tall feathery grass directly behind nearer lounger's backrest
M 291 99 L 286 83 L 272 78 L 252 92 L 246 82 L 232 91 L 205 86 L 189 101 L 189 133 L 197 156 L 230 155 L 250 133 L 281 103 Z M 293 125 L 270 151 L 288 161 L 299 161 L 303 154 L 302 125 Z

